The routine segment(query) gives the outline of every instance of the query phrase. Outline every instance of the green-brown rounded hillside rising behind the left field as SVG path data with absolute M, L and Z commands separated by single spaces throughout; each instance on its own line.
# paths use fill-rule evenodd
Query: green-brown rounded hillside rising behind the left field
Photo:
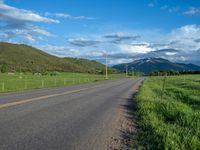
M 0 42 L 0 68 L 8 71 L 97 73 L 105 66 L 93 60 L 59 58 L 24 44 Z

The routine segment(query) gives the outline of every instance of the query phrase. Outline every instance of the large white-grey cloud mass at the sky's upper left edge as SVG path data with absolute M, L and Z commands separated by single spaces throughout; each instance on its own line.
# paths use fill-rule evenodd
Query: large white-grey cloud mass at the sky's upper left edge
M 33 25 L 34 22 L 59 23 L 58 20 L 40 16 L 35 12 L 8 6 L 3 1 L 0 3 L 0 21 L 0 40 L 20 42 L 34 42 L 41 39 L 41 36 L 53 36 Z

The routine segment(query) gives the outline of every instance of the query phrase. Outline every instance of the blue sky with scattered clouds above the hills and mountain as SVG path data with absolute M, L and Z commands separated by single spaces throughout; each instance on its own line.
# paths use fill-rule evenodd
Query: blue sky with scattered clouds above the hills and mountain
M 0 41 L 109 65 L 200 65 L 199 0 L 0 0 Z

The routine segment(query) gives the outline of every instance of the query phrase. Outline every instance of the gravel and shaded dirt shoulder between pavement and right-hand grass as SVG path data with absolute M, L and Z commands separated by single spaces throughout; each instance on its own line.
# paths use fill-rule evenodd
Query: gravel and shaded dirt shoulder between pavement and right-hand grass
M 136 101 L 135 97 L 138 93 L 141 81 L 132 88 L 132 95 L 126 99 L 124 104 L 120 105 L 118 111 L 118 119 L 115 125 L 115 132 L 108 141 L 108 150 L 129 150 L 137 149 L 136 142 Z

